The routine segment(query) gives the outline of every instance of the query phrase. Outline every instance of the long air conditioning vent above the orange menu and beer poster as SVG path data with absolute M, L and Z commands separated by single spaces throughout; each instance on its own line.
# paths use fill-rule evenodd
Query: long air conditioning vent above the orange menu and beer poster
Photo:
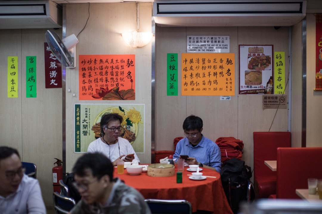
M 157 26 L 292 26 L 306 1 L 185 1 L 153 3 Z

